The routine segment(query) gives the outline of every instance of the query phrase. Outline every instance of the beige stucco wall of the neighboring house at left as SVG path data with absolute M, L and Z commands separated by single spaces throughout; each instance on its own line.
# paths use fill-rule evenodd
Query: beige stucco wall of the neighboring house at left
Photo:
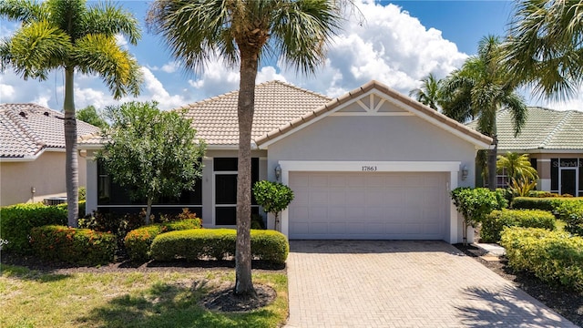
M 78 161 L 79 187 L 85 187 L 85 159 L 79 156 Z M 66 196 L 65 183 L 65 151 L 45 151 L 33 161 L 0 162 L 0 206 Z

